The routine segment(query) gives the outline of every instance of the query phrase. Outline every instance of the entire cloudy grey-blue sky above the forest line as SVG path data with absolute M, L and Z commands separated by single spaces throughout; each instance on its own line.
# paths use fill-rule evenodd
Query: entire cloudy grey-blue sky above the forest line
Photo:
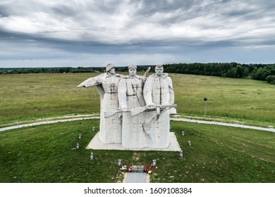
M 271 0 L 0 0 L 0 68 L 275 63 Z

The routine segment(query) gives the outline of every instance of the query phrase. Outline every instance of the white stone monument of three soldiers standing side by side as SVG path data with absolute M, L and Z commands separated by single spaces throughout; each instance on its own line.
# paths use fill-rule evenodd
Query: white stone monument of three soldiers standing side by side
M 168 148 L 170 115 L 176 114 L 171 78 L 164 73 L 162 65 L 156 65 L 155 74 L 147 79 L 147 72 L 144 76 L 136 75 L 136 65 L 128 66 L 128 72 L 128 76 L 118 75 L 115 66 L 108 64 L 106 73 L 78 85 L 96 86 L 99 92 L 100 143 L 107 147 L 121 146 L 120 150 Z M 176 141 L 174 135 L 173 140 Z M 178 148 L 176 141 L 176 147 L 167 150 L 178 151 Z

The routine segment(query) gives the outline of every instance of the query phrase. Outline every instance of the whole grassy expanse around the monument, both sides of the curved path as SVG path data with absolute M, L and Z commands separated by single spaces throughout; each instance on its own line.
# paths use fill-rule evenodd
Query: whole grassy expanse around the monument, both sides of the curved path
M 97 90 L 75 88 L 94 75 L 97 73 L 1 75 L 0 127 L 98 116 Z M 207 97 L 207 120 L 275 127 L 275 87 L 271 84 L 170 76 L 180 117 L 204 119 L 203 98 Z M 273 132 L 171 121 L 171 132 L 184 154 L 178 158 L 176 152 L 87 150 L 96 134 L 93 126 L 98 131 L 99 120 L 0 132 L 0 182 L 122 182 L 118 158 L 126 165 L 147 166 L 157 159 L 150 182 L 275 182 Z M 182 129 L 185 136 L 181 136 Z M 94 160 L 90 160 L 91 151 Z

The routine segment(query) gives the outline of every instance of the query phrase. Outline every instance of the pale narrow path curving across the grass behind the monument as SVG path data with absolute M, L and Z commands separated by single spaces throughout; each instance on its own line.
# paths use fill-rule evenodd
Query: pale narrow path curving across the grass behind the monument
M 11 127 L 0 128 L 0 132 L 4 132 L 4 131 L 10 130 L 10 129 L 18 129 L 18 128 L 22 128 L 22 127 L 32 127 L 32 126 L 36 126 L 36 125 L 52 124 L 52 123 L 56 123 L 56 122 L 68 122 L 68 121 L 74 121 L 74 120 L 90 120 L 90 119 L 99 119 L 99 118 L 100 117 L 77 117 L 77 118 L 70 118 L 70 119 L 63 119 L 63 120 L 49 120 L 49 121 L 43 121 L 43 122 L 34 122 L 34 123 L 30 123 L 30 124 L 16 125 L 16 126 L 11 126 Z M 267 131 L 267 132 L 275 132 L 274 128 L 254 127 L 254 126 L 249 126 L 249 125 L 239 125 L 239 124 L 231 124 L 231 123 L 224 123 L 224 122 L 205 121 L 205 120 L 192 120 L 192 119 L 173 118 L 173 117 L 171 117 L 170 120 L 183 121 L 183 122 L 195 122 L 195 123 L 209 124 L 209 125 L 239 127 L 239 128 L 246 128 L 246 129 L 256 129 L 256 130 L 262 130 L 262 131 Z

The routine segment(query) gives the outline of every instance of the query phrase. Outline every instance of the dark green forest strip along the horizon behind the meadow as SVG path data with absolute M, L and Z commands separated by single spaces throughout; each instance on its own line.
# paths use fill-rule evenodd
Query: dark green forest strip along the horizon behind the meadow
M 154 65 L 138 65 L 138 71 L 145 71 Z M 126 72 L 128 67 L 116 67 L 117 72 Z M 104 72 L 105 67 L 62 67 L 62 68 L 0 68 L 0 75 L 24 73 L 76 73 Z M 164 64 L 164 72 L 216 77 L 246 78 L 267 81 L 275 84 L 275 64 L 240 64 L 240 63 L 171 63 Z

